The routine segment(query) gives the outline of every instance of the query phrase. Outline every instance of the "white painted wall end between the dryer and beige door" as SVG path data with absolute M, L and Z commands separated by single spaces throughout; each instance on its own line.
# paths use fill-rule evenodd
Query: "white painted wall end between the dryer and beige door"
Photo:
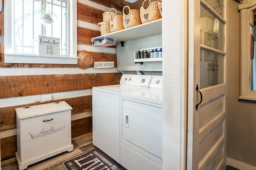
M 188 0 L 162 1 L 163 170 L 186 169 L 187 7 Z

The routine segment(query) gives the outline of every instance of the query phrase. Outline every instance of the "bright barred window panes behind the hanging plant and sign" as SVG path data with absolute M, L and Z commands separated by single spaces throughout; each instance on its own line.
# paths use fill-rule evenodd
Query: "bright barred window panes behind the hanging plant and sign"
M 66 0 L 14 0 L 14 53 L 36 54 L 37 36 L 44 35 L 60 38 L 60 55 L 67 56 L 67 4 Z M 56 14 L 51 25 L 40 23 L 38 11 L 42 6 Z

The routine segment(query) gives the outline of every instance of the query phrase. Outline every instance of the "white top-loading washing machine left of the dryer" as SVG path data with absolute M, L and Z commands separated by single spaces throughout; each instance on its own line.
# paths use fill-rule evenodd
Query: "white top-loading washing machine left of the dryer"
M 92 88 L 92 143 L 120 163 L 120 92 L 148 88 L 151 75 L 124 74 L 120 84 Z

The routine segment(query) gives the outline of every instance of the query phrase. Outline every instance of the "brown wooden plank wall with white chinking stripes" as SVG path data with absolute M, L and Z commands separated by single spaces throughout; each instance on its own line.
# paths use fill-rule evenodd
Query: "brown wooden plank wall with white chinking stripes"
M 88 1 L 88 0 L 87 0 Z M 79 1 L 77 2 L 77 12 L 78 12 L 78 21 L 83 23 L 97 24 L 102 21 L 102 14 L 106 10 L 99 10 L 96 3 L 90 5 L 83 4 Z M 88 1 L 89 2 L 89 1 Z M 106 7 L 112 7 L 107 5 L 106 2 L 98 2 Z M 118 9 L 122 8 L 122 2 L 116 0 L 114 4 Z M 109 3 L 110 4 L 110 3 Z M 109 8 L 110 9 L 110 8 Z M 0 35 L 4 36 L 4 12 L 0 13 Z M 94 61 L 114 61 L 114 67 L 116 68 L 116 53 L 108 53 L 99 49 L 90 51 L 92 49 L 91 38 L 100 35 L 100 31 L 97 29 L 90 29 L 88 27 L 83 27 L 78 25 L 77 27 L 78 35 L 78 53 L 81 50 L 88 51 Z M 14 64 L 14 63 L 4 63 L 4 44 L 0 45 L 0 69 L 16 69 L 16 68 L 36 68 L 40 72 L 40 68 L 49 68 L 52 69 L 52 72 L 58 68 L 67 68 L 67 69 L 80 69 L 76 64 Z M 114 48 L 116 48 L 114 46 Z M 109 49 L 113 49 L 110 47 Z M 103 52 L 101 52 L 103 51 Z M 92 131 L 92 94 L 91 90 L 94 86 L 104 86 L 111 84 L 118 84 L 121 78 L 121 73 L 116 71 L 104 71 L 102 73 L 97 73 L 94 71 L 93 66 L 87 68 L 90 70 L 90 73 L 87 73 L 84 70 L 84 73 L 74 73 L 74 74 L 36 74 L 36 75 L 7 75 L 0 76 L 0 103 L 4 106 L 5 102 L 8 103 L 9 99 L 18 99 L 21 97 L 30 97 L 34 95 L 42 94 L 58 94 L 58 93 L 67 93 L 67 95 L 74 92 L 86 92 L 88 94 L 80 95 L 74 97 L 66 98 L 53 98 L 51 102 L 57 101 L 66 101 L 72 109 L 72 138 L 78 135 L 82 135 Z M 76 72 L 76 71 L 75 71 Z M 78 72 L 80 72 L 78 70 Z M 94 73 L 96 72 L 96 73 Z M 43 72 L 42 72 L 43 73 Z M 22 100 L 22 99 L 21 99 Z M 47 103 L 47 102 L 46 102 Z M 35 100 L 34 102 L 28 102 L 26 104 L 9 104 L 10 106 L 0 106 L 0 134 L 1 134 L 1 160 L 6 160 L 8 158 L 14 157 L 15 152 L 17 151 L 16 143 L 16 112 L 15 108 L 32 106 L 42 104 L 40 100 Z

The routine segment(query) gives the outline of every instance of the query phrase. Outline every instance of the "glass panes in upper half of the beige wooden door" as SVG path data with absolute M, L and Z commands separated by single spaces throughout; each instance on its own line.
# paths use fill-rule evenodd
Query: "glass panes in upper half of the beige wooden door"
M 223 0 L 200 2 L 200 89 L 224 83 L 225 24 Z

